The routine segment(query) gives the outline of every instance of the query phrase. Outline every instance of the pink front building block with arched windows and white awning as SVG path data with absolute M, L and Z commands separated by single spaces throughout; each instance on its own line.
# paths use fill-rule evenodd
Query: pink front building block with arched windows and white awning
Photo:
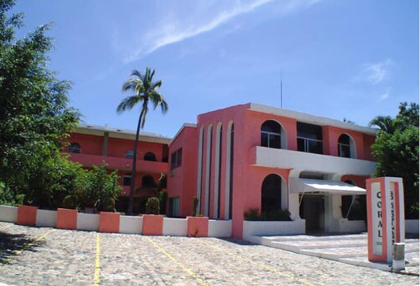
M 232 220 L 241 238 L 244 212 L 288 209 L 306 231 L 345 231 L 344 202 L 365 194 L 375 170 L 375 129 L 248 103 L 200 114 L 169 146 L 169 212 Z M 366 227 L 364 225 L 364 227 Z

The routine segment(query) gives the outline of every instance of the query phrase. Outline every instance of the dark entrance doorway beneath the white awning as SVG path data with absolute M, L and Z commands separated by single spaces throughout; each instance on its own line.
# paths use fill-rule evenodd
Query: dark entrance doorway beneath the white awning
M 306 232 L 324 231 L 324 196 L 305 194 L 299 212 L 300 217 L 306 220 Z

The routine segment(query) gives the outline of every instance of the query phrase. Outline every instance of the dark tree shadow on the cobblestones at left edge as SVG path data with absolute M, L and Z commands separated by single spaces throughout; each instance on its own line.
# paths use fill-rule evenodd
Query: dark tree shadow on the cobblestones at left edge
M 11 234 L 0 230 L 0 264 L 7 263 L 7 259 L 11 258 L 15 251 L 35 251 L 35 248 L 42 244 L 38 241 L 29 246 L 33 241 L 33 238 L 25 234 Z

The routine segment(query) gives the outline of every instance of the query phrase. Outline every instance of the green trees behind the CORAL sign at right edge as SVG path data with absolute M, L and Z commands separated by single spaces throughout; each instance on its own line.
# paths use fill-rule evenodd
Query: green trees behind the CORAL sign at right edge
M 400 104 L 400 112 L 390 116 L 377 116 L 371 124 L 381 129 L 372 145 L 377 159 L 375 177 L 402 177 L 406 218 L 418 218 L 418 104 Z

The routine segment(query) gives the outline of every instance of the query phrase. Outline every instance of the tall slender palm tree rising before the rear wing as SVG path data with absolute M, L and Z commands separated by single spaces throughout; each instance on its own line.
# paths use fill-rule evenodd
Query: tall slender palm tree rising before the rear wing
M 123 92 L 133 92 L 131 96 L 124 98 L 117 107 L 117 112 L 122 113 L 125 110 L 131 110 L 138 103 L 141 103 L 140 116 L 137 123 L 136 139 L 134 141 L 133 170 L 131 172 L 130 199 L 127 214 L 130 216 L 133 212 L 134 185 L 136 177 L 137 147 L 140 129 L 143 129 L 146 120 L 146 114 L 149 111 L 149 102 L 153 109 L 160 106 L 163 114 L 166 113 L 168 105 L 157 90 L 162 85 L 162 81 L 153 81 L 155 70 L 146 67 L 146 73 L 143 75 L 137 69 L 134 69 L 129 79 L 122 85 Z

